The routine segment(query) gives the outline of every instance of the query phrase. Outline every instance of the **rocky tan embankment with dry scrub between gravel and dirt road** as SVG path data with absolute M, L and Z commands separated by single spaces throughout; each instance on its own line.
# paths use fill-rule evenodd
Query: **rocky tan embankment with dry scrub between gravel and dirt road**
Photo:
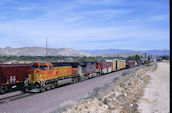
M 156 64 L 151 64 L 124 72 L 112 83 L 95 89 L 85 101 L 69 107 L 63 113 L 138 113 L 138 102 L 151 79 L 146 72 L 156 68 Z

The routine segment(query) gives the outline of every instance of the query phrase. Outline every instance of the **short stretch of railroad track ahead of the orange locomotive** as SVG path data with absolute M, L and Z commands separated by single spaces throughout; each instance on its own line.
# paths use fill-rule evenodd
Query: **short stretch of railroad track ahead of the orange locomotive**
M 31 93 L 22 93 L 22 94 L 17 94 L 17 95 L 5 97 L 5 98 L 0 99 L 0 104 L 8 103 L 8 102 L 11 102 L 11 101 L 14 101 L 14 100 L 17 100 L 17 99 L 20 99 L 20 98 L 24 98 L 24 97 L 27 97 L 27 96 L 30 96 L 30 95 L 33 95 L 33 94 L 31 94 Z

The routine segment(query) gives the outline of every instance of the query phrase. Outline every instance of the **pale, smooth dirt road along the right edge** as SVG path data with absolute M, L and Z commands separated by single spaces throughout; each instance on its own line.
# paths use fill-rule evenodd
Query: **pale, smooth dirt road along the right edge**
M 147 73 L 151 76 L 151 81 L 145 89 L 139 109 L 141 113 L 169 113 L 169 63 L 158 63 L 158 68 L 154 72 Z

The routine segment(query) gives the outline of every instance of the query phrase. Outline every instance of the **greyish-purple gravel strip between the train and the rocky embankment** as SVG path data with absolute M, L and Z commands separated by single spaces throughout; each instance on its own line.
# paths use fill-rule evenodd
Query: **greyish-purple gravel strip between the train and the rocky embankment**
M 0 113 L 50 113 L 73 104 L 88 96 L 94 88 L 103 87 L 110 83 L 120 73 L 128 69 L 113 72 L 83 82 L 55 88 L 43 93 L 34 94 L 15 101 L 0 104 Z

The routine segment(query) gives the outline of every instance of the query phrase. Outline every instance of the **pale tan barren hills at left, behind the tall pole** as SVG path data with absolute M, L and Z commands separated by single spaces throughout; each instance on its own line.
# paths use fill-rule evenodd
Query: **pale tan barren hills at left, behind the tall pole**
M 72 48 L 48 48 L 48 56 L 94 56 L 91 53 L 81 52 Z M 0 56 L 46 56 L 46 48 L 22 47 L 22 48 L 0 48 Z

